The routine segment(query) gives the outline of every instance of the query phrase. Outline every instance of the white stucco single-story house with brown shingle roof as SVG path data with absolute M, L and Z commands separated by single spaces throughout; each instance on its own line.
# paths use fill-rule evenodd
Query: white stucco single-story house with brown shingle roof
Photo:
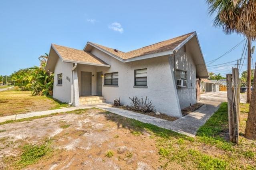
M 129 97 L 147 96 L 156 111 L 175 117 L 197 102 L 196 87 L 209 78 L 196 32 L 130 52 L 92 42 L 83 50 L 51 44 L 45 70 L 54 72 L 53 98 L 62 102 L 121 98 L 129 105 Z

